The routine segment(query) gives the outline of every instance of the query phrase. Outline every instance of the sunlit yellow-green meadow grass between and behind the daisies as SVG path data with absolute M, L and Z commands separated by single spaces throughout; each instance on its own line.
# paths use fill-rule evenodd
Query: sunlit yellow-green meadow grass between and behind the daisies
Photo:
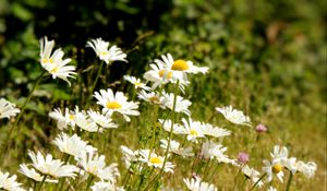
M 317 89 L 307 93 L 303 100 L 300 100 L 300 104 L 296 105 L 292 100 L 292 94 L 281 99 L 274 93 L 276 89 L 270 89 L 274 88 L 272 86 L 266 85 L 269 84 L 269 82 L 267 82 L 269 79 L 265 79 L 265 82 L 263 77 L 269 75 L 268 73 L 261 73 L 259 75 L 251 74 L 250 72 L 246 73 L 244 67 L 246 65 L 229 68 L 228 73 L 215 71 L 214 68 L 209 70 L 208 74 L 192 76 L 192 83 L 186 86 L 185 95 L 183 95 L 183 97 L 192 102 L 192 106 L 190 107 L 192 119 L 209 122 L 214 126 L 230 130 L 232 132 L 230 136 L 217 140 L 219 143 L 222 143 L 223 146 L 228 147 L 226 152 L 227 155 L 230 158 L 237 158 L 240 152 L 249 153 L 249 165 L 259 171 L 263 166 L 262 160 L 269 158 L 269 153 L 274 145 L 287 146 L 290 151 L 290 155 L 301 160 L 314 160 L 318 165 L 315 177 L 313 179 L 306 179 L 303 175 L 296 174 L 293 182 L 291 182 L 291 188 L 294 190 L 324 189 L 326 181 L 324 172 L 326 168 L 324 162 L 326 157 L 326 144 L 324 144 L 326 143 L 326 129 L 322 128 L 322 124 L 326 122 L 323 117 L 325 111 L 317 103 L 311 103 L 310 106 L 305 105 L 306 100 L 315 99 L 314 96 L 317 96 L 315 91 Z M 92 77 L 95 77 L 95 73 L 97 73 L 96 69 L 97 65 L 94 67 L 95 71 L 88 74 L 89 82 L 92 82 Z M 242 73 L 240 71 L 245 72 Z M 95 91 L 106 87 L 126 89 L 128 96 L 133 97 L 132 99 L 137 102 L 136 89 L 134 89 L 132 84 L 121 81 L 119 85 L 112 86 L 112 83 L 106 81 L 106 75 L 109 75 L 111 72 L 114 71 L 107 73 L 105 70 L 105 72 L 101 73 L 98 81 L 99 84 Z M 247 79 L 254 77 L 255 80 L 252 79 L 251 82 L 244 82 L 243 79 L 246 79 L 244 75 L 247 75 Z M 60 102 L 58 106 L 61 107 L 61 109 L 63 109 L 63 107 L 73 109 L 75 103 L 81 109 L 93 108 L 99 110 L 100 107 L 96 105 L 95 98 L 90 96 L 87 85 L 78 85 L 80 80 L 81 76 L 78 76 L 75 82 L 72 81 L 71 91 L 82 91 L 82 93 L 77 96 L 72 95 L 75 97 L 74 102 Z M 83 87 L 86 88 L 83 91 Z M 167 92 L 174 92 L 177 89 L 174 84 L 170 84 L 165 88 Z M 36 97 L 33 99 L 35 100 Z M 27 105 L 27 111 L 13 131 L 8 152 L 2 153 L 2 170 L 8 169 L 15 174 L 19 164 L 29 163 L 27 156 L 27 151 L 29 150 L 51 153 L 56 158 L 63 158 L 62 153 L 52 144 L 52 141 L 61 130 L 56 128 L 56 122 L 50 120 L 47 115 L 34 112 L 32 104 L 35 103 L 32 102 Z M 243 108 L 245 114 L 253 119 L 254 127 L 237 126 L 227 121 L 222 115 L 215 111 L 215 107 L 225 105 Z M 45 106 L 47 107 L 45 110 L 48 110 L 48 112 L 56 108 L 56 106 L 50 104 L 46 104 Z M 128 190 L 153 190 L 156 187 L 161 189 L 185 189 L 182 179 L 192 177 L 192 175 L 196 172 L 196 175 L 203 178 L 203 181 L 209 181 L 209 183 L 215 184 L 219 190 L 250 190 L 251 183 L 244 181 L 244 176 L 239 175 L 240 172 L 237 167 L 228 164 L 216 164 L 214 159 L 208 163 L 207 159 L 202 160 L 197 157 L 173 157 L 172 162 L 175 165 L 173 168 L 174 172 L 165 174 L 160 176 L 160 178 L 156 178 L 156 176 L 160 175 L 160 170 L 152 169 L 146 167 L 146 165 L 143 165 L 145 171 L 142 171 L 141 175 L 130 175 L 123 165 L 120 146 L 125 145 L 132 150 L 141 150 L 148 148 L 154 144 L 154 151 L 158 151 L 162 156 L 165 152 L 159 146 L 159 140 L 167 139 L 169 133 L 162 130 L 157 119 L 162 119 L 166 116 L 169 116 L 168 118 L 172 117 L 172 112 L 160 109 L 157 105 L 149 105 L 144 102 L 141 102 L 138 110 L 141 115 L 132 117 L 131 122 L 126 122 L 120 115 L 113 115 L 111 118 L 119 124 L 119 128 L 106 130 L 104 133 L 88 133 L 77 130 L 75 127 L 75 131 L 81 135 L 82 140 L 88 141 L 93 146 L 98 148 L 98 153 L 106 155 L 106 163 L 119 164 L 121 177 L 118 179 L 118 184 L 121 186 L 123 183 Z M 180 122 L 182 116 L 185 117 L 185 115 L 175 115 L 177 122 Z M 1 133 L 1 140 L 5 140 L 5 134 L 9 133 L 13 123 L 14 119 L 2 121 L 3 128 L 1 128 L 1 131 L 3 133 Z M 258 134 L 254 129 L 258 123 L 264 123 L 268 127 L 268 131 Z M 66 132 L 71 134 L 72 131 L 68 130 Z M 156 136 L 155 140 L 153 140 L 154 134 Z M 173 135 L 172 138 L 185 143 L 185 135 Z M 204 141 L 201 140 L 198 144 L 203 143 Z M 186 141 L 185 145 L 192 144 L 192 142 Z M 197 144 L 194 144 L 194 148 L 198 152 L 199 147 L 196 145 Z M 70 162 L 74 164 L 72 158 Z M 125 179 L 126 176 L 130 177 Z M 19 177 L 24 184 L 33 186 L 32 182 L 27 181 L 22 175 L 19 175 Z M 286 174 L 284 181 L 287 177 L 288 174 Z M 75 181 L 78 182 L 77 186 L 74 184 Z M 88 179 L 88 181 L 90 181 L 90 179 Z M 76 178 L 74 181 L 70 180 L 63 188 L 73 189 L 71 187 L 74 186 L 76 189 L 85 189 L 90 186 L 87 186 L 88 183 L 86 182 L 88 181 L 82 177 Z M 272 184 L 278 190 L 286 188 L 286 182 L 280 183 L 276 179 L 268 184 Z M 268 188 L 268 186 L 264 188 Z M 46 183 L 43 189 L 57 190 L 58 187 Z

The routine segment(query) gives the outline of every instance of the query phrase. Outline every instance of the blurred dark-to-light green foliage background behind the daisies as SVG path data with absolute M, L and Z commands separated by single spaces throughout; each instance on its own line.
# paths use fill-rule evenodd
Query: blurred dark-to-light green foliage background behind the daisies
M 33 116 L 24 120 L 46 138 L 49 110 L 85 104 L 81 96 L 98 63 L 85 48 L 87 40 L 102 37 L 128 52 L 129 63 L 107 68 L 110 76 L 98 88 L 129 91 L 122 75 L 141 76 L 150 61 L 171 52 L 210 68 L 187 87 L 196 102 L 193 116 L 211 119 L 207 106 L 245 108 L 270 128 L 274 143 L 318 163 L 318 178 L 307 188 L 320 189 L 326 182 L 326 0 L 0 0 L 0 96 L 22 105 L 43 70 L 38 40 L 55 39 L 77 65 L 78 77 L 72 88 L 46 80 L 29 103 Z M 39 139 L 27 129 L 17 146 Z

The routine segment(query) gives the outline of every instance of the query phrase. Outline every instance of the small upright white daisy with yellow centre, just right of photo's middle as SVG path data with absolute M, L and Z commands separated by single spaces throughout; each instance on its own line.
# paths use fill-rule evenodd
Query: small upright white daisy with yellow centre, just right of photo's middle
M 182 119 L 183 128 L 187 134 L 187 140 L 192 142 L 197 142 L 197 138 L 205 138 L 204 135 L 204 126 L 202 122 L 193 121 L 191 118 L 186 120 L 185 118 Z

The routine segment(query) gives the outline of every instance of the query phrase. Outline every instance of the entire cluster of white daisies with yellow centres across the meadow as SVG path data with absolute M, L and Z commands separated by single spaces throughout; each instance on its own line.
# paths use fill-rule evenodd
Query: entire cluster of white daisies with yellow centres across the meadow
M 97 38 L 87 41 L 86 46 L 94 49 L 102 63 L 128 62 L 126 55 L 119 47 L 109 45 L 108 41 Z M 64 53 L 60 48 L 52 51 L 53 46 L 55 41 L 49 41 L 46 37 L 40 40 L 40 64 L 53 79 L 62 79 L 71 85 L 69 79 L 76 74 L 75 67 L 68 64 L 71 59 L 63 59 Z M 81 186 L 93 191 L 171 190 L 172 188 L 165 186 L 166 180 L 162 177 L 169 177 L 164 176 L 165 174 L 174 174 L 179 166 L 178 157 L 189 159 L 190 170 L 195 171 L 192 176 L 183 178 L 183 186 L 178 189 L 183 187 L 191 191 L 216 191 L 216 186 L 209 182 L 216 174 L 215 167 L 220 164 L 238 168 L 254 189 L 270 186 L 269 182 L 275 176 L 283 181 L 286 170 L 290 175 L 302 172 L 307 178 L 314 176 L 317 168 L 315 163 L 289 157 L 288 150 L 283 146 L 274 147 L 271 159 L 263 162 L 262 172 L 247 165 L 249 154 L 240 153 L 237 158 L 227 155 L 228 148 L 222 141 L 232 132 L 194 120 L 190 110 L 192 103 L 183 97 L 185 87 L 191 84 L 190 75 L 204 74 L 208 72 L 208 68 L 196 67 L 187 60 L 174 60 L 170 53 L 155 59 L 149 68 L 143 75 L 144 81 L 130 75 L 123 77 L 133 84 L 138 102 L 129 99 L 123 92 L 105 88 L 92 92 L 94 100 L 88 102 L 96 100 L 97 105 L 90 108 L 80 109 L 75 106 L 56 108 L 49 112 L 49 117 L 57 122 L 61 131 L 52 141 L 61 152 L 61 157 L 55 158 L 50 153 L 40 151 L 28 152 L 31 162 L 21 164 L 19 171 L 31 180 L 27 182 L 29 190 L 45 190 L 46 183 L 53 184 L 52 188 L 60 191 L 74 190 Z M 169 89 L 173 89 L 173 93 Z M 141 115 L 140 102 L 158 111 L 153 116 L 155 122 L 150 124 L 152 132 L 148 132 L 153 135 L 146 147 L 134 150 L 125 145 L 120 146 L 125 167 L 125 176 L 121 176 L 119 165 L 107 164 L 105 154 L 100 154 L 98 148 L 83 140 L 82 135 L 118 129 L 117 115 L 130 122 L 132 117 Z M 159 112 L 159 109 L 162 112 Z M 232 106 L 216 107 L 216 111 L 233 124 L 253 127 L 250 117 Z M 20 109 L 14 104 L 0 99 L 0 119 L 14 117 L 19 112 Z M 267 128 L 258 124 L 255 130 L 263 133 Z M 20 191 L 26 187 L 16 181 L 15 175 L 10 176 L 0 169 L 1 189 Z M 269 190 L 276 189 L 270 186 Z

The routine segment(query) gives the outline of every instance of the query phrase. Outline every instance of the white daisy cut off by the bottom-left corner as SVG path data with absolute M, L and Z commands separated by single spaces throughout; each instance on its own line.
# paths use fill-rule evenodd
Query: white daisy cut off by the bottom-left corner
M 0 190 L 8 191 L 24 191 L 25 189 L 21 188 L 22 183 L 16 181 L 17 176 L 13 175 L 10 177 L 9 172 L 2 172 L 0 170 Z

